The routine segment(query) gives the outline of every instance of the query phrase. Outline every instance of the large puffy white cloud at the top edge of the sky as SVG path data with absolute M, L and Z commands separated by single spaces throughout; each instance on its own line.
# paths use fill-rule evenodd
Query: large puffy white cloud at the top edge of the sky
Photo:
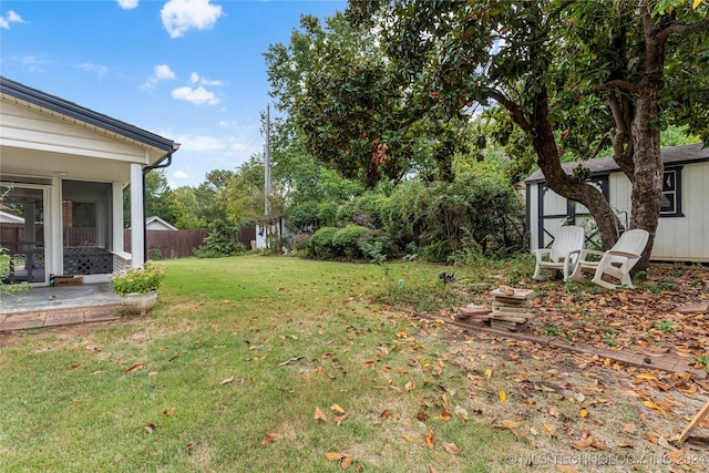
M 160 12 L 171 38 L 181 38 L 192 29 L 208 30 L 222 17 L 222 7 L 209 0 L 168 0 Z

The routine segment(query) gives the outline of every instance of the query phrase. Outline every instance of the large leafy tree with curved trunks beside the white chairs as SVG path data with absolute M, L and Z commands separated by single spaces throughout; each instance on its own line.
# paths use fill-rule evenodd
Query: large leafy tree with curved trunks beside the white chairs
M 417 124 L 455 126 L 466 105 L 499 107 L 497 137 L 518 133 L 516 148 L 531 152 L 513 157 L 531 155 L 553 191 L 585 205 L 609 247 L 608 202 L 559 161 L 565 148 L 585 158 L 609 143 L 633 186 L 630 227 L 650 233 L 643 268 L 659 218 L 661 128 L 686 125 L 709 143 L 708 11 L 702 0 L 350 0 L 350 20 L 380 34 L 382 55 L 370 64 L 326 45 L 335 65 L 314 69 L 301 102 L 308 146 L 376 177 L 413 158 L 415 147 L 399 145 Z M 444 136 L 454 147 L 454 133 Z

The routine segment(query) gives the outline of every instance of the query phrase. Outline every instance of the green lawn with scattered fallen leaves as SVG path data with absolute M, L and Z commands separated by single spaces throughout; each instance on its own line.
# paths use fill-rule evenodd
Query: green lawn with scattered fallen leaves
M 392 265 L 390 279 L 295 258 L 160 265 L 147 317 L 0 351 L 3 472 L 340 471 L 328 452 L 363 471 L 515 471 L 500 452 L 524 444 L 466 421 L 467 372 L 440 327 L 372 301 L 399 290 L 402 304 L 454 306 L 446 288 L 423 289 L 439 268 Z M 496 395 L 504 379 L 490 383 Z

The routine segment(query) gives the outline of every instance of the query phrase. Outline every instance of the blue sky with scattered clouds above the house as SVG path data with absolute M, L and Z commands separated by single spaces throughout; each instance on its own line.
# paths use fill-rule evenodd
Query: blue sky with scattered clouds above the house
M 166 169 L 196 186 L 264 150 L 264 52 L 333 0 L 3 0 L 0 74 L 182 144 Z M 271 113 L 273 107 L 271 107 Z

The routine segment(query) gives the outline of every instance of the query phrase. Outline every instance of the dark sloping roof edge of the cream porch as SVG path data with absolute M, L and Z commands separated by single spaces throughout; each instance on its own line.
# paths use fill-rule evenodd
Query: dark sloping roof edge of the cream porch
M 65 117 L 78 120 L 90 126 L 105 130 L 116 135 L 124 136 L 129 140 L 142 143 L 144 145 L 173 152 L 179 147 L 179 144 L 173 140 L 165 138 L 148 131 L 138 128 L 135 125 L 122 122 L 111 116 L 104 115 L 84 106 L 78 105 L 68 100 L 48 94 L 37 89 L 32 89 L 19 82 L 12 81 L 0 75 L 0 94 L 7 97 L 13 97 L 18 103 L 25 103 L 32 107 L 38 107 L 43 112 L 53 112 Z

